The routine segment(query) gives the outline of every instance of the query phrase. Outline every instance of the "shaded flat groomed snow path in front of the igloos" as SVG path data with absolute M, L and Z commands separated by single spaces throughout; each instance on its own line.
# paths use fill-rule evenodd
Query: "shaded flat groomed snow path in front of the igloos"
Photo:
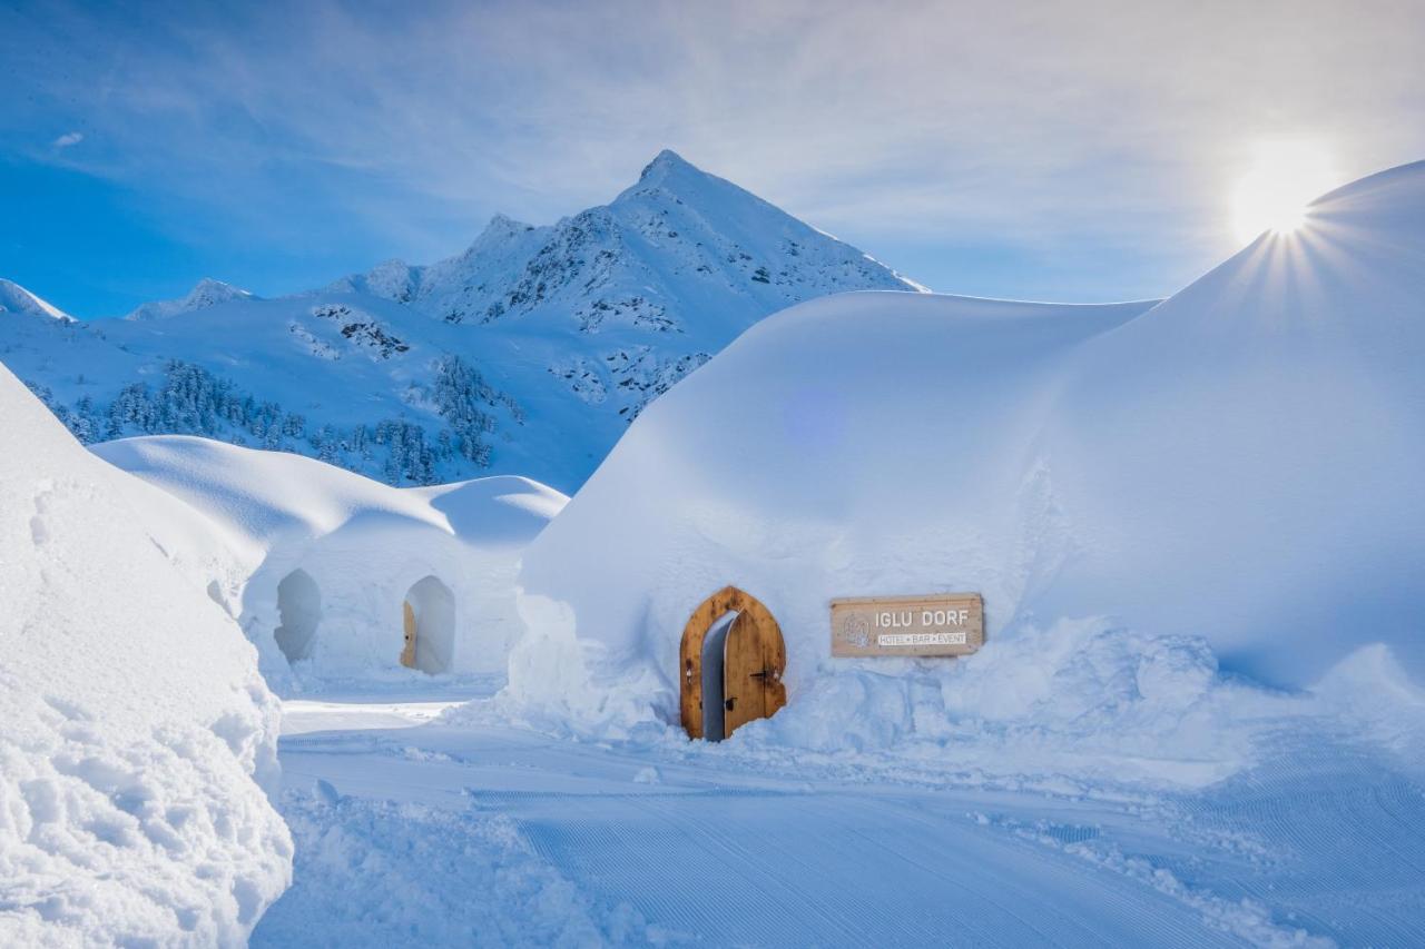
M 453 698 L 288 702 L 256 945 L 1425 945 L 1421 785 L 1320 737 L 1203 794 L 1056 792 L 428 724 Z

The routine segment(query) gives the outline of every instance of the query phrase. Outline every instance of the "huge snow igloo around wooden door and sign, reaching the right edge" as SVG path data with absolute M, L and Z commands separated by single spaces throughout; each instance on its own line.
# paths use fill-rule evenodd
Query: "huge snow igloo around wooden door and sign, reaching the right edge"
M 725 584 L 787 638 L 789 705 L 755 728 L 812 745 L 995 708 L 1073 728 L 1092 700 L 1096 734 L 1129 715 L 1150 747 L 1218 663 L 1307 685 L 1384 643 L 1425 673 L 1422 222 L 1411 165 L 1157 306 L 848 294 L 764 321 L 532 546 L 523 608 L 547 631 L 510 697 L 675 720 L 683 624 Z M 976 657 L 829 658 L 831 597 L 959 590 L 985 596 Z M 1140 714 L 1159 701 L 1176 711 Z

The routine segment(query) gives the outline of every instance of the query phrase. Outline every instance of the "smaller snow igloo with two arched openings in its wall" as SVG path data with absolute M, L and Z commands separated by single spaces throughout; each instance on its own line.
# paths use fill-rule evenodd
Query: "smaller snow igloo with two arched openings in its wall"
M 321 462 L 185 436 L 94 447 L 214 524 L 200 561 L 278 688 L 399 670 L 499 674 L 524 546 L 564 496 L 522 477 L 393 489 Z M 222 551 L 212 554 L 211 551 Z M 298 670 L 294 678 L 292 668 Z

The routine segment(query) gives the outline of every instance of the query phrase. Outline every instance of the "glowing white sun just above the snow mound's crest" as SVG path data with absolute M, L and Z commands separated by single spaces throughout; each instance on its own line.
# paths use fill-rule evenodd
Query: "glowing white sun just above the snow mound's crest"
M 1243 244 L 1263 231 L 1291 234 L 1308 205 L 1340 184 L 1331 152 L 1304 138 L 1258 142 L 1251 168 L 1233 191 L 1233 232 Z

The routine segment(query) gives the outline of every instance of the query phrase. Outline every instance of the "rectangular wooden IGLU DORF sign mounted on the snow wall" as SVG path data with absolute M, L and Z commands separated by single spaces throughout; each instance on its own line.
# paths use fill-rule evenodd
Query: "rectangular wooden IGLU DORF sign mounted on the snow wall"
M 978 593 L 831 601 L 832 655 L 966 655 L 983 644 Z

